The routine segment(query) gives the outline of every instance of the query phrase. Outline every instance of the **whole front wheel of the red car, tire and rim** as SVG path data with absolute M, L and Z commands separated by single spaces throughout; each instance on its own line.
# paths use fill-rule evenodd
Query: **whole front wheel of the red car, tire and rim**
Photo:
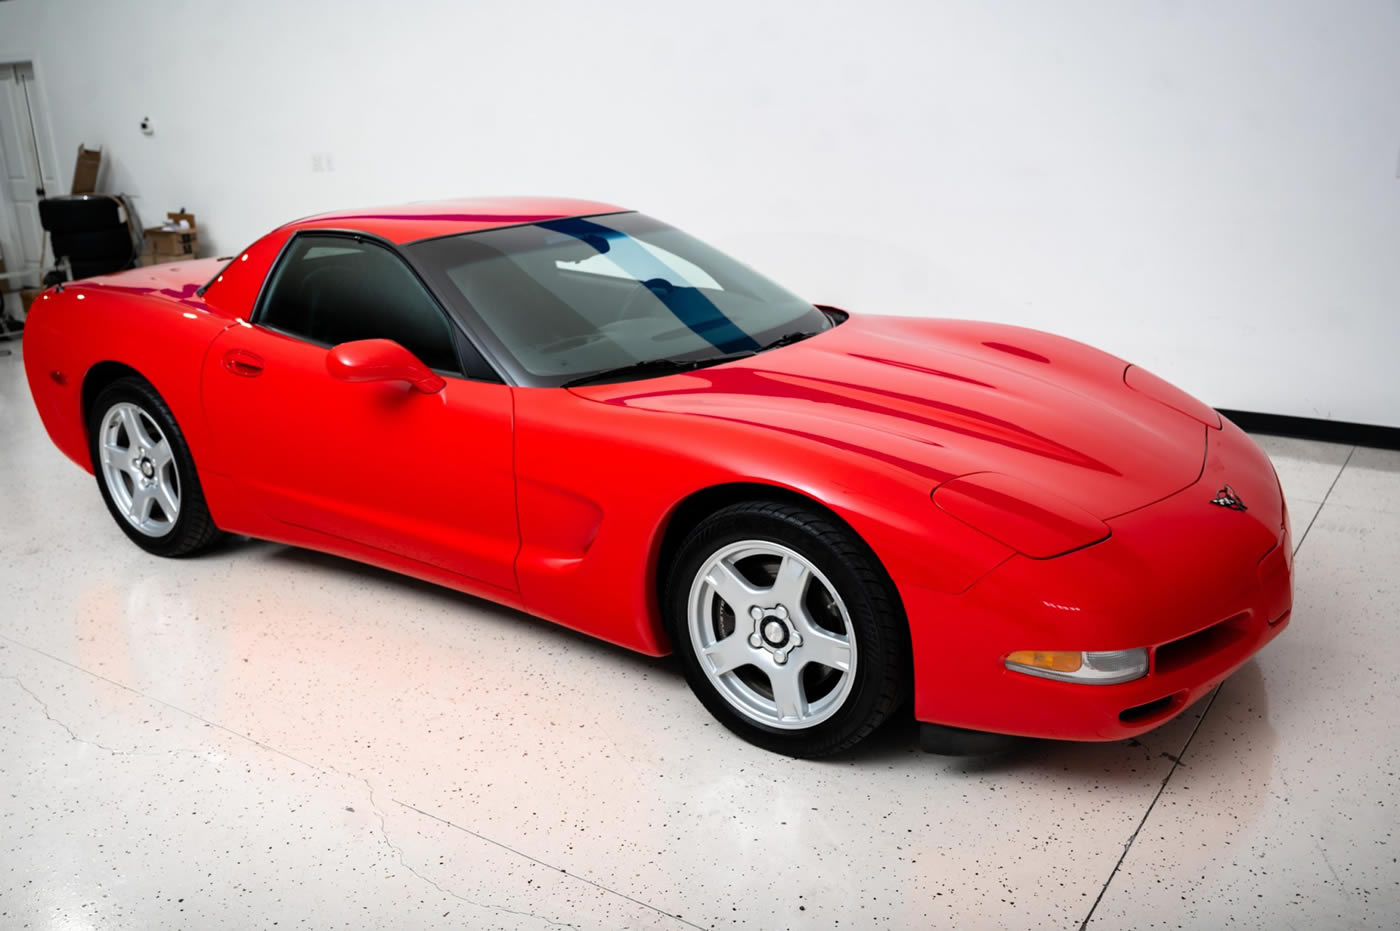
M 851 748 L 909 692 L 909 627 L 889 577 L 815 508 L 750 501 L 706 518 L 672 566 L 665 608 L 690 687 L 766 749 Z

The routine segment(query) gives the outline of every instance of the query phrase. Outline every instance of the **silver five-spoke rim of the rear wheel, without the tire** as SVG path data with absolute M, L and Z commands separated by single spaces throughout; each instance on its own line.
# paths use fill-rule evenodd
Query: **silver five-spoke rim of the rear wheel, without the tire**
M 165 536 L 179 519 L 181 491 L 169 438 L 126 400 L 108 407 L 101 430 L 102 482 L 116 510 L 146 536 Z

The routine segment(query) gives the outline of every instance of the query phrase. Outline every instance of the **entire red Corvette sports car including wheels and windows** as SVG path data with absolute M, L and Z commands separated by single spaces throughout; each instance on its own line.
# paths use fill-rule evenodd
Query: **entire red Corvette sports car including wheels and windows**
M 223 533 L 679 654 L 743 738 L 1127 738 L 1288 623 L 1268 458 L 1057 336 L 812 305 L 602 203 L 333 213 L 45 291 L 57 447 L 161 556 Z

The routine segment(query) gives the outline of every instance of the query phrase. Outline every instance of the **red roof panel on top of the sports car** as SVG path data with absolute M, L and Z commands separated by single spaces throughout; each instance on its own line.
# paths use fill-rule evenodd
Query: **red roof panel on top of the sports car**
M 540 220 L 561 220 L 598 213 L 620 213 L 624 207 L 573 197 L 465 197 L 427 200 L 389 207 L 336 210 L 288 223 L 290 230 L 356 230 L 395 244 L 434 237 L 477 232 Z

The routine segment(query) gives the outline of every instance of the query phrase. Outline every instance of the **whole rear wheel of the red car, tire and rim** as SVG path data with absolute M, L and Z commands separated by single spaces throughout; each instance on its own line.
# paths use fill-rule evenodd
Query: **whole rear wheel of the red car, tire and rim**
M 169 407 L 141 378 L 104 388 L 88 412 L 98 490 L 118 526 L 157 556 L 190 556 L 221 536 Z

